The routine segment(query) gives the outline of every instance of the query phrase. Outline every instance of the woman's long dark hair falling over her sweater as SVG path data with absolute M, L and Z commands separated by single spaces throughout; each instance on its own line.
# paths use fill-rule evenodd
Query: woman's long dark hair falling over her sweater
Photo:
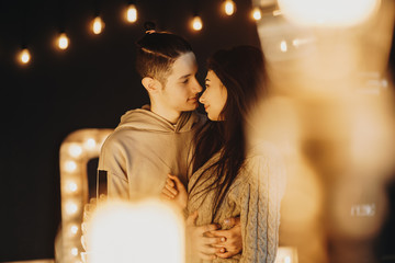
M 205 190 L 195 194 L 215 191 L 213 218 L 218 213 L 226 193 L 239 173 L 246 159 L 245 126 L 247 115 L 258 99 L 266 93 L 263 54 L 252 46 L 238 46 L 216 52 L 207 61 L 227 90 L 227 101 L 221 113 L 221 122 L 207 121 L 195 134 L 192 169 L 195 172 L 215 153 L 219 159 L 205 168 L 190 192 L 210 176 L 215 176 Z M 211 172 L 210 176 L 203 176 Z M 203 181 L 203 182 L 202 182 Z

